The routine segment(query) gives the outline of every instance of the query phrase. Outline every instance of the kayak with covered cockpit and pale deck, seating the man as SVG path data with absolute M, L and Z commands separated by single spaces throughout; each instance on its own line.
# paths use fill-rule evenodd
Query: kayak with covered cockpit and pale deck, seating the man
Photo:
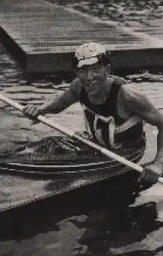
M 144 148 L 134 148 L 126 158 L 146 163 L 154 157 L 155 144 L 156 138 L 150 132 L 145 154 Z M 72 195 L 70 192 L 77 195 L 77 191 L 82 191 L 84 195 L 88 188 L 95 192 L 105 187 L 105 182 L 109 187 L 110 182 L 117 187 L 114 178 L 124 184 L 122 176 L 128 177 L 134 171 L 79 141 L 50 137 L 1 154 L 0 172 L 0 212 L 4 212 L 48 198 L 61 199 L 65 194 Z

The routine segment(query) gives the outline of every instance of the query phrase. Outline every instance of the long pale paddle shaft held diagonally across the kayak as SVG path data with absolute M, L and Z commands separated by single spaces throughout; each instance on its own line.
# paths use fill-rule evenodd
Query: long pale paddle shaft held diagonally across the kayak
M 22 105 L 18 104 L 18 102 L 13 101 L 12 99 L 5 97 L 2 94 L 0 94 L 0 99 L 9 105 L 12 105 L 13 107 L 17 108 L 20 111 L 23 110 Z M 65 127 L 62 127 L 60 124 L 57 124 L 56 122 L 50 120 L 49 118 L 39 115 L 39 116 L 37 116 L 37 119 L 39 121 L 42 121 L 42 123 L 47 124 L 48 126 L 57 129 L 59 132 L 63 132 L 65 135 L 69 135 L 70 137 L 80 140 L 82 143 L 85 143 L 88 146 L 95 148 L 97 151 L 100 151 L 102 154 L 105 154 L 105 156 L 115 159 L 116 161 L 121 162 L 121 164 L 124 164 L 134 170 L 137 170 L 140 173 L 143 172 L 142 166 L 137 165 L 134 162 L 131 162 L 131 161 L 125 159 L 124 157 L 121 157 L 118 154 L 113 153 L 112 151 L 109 151 L 107 148 L 103 148 L 102 146 L 99 146 L 96 143 L 93 143 L 91 140 L 82 138 L 80 135 L 77 135 L 77 134 L 75 134 L 75 132 L 73 132 Z M 158 181 L 163 184 L 163 177 L 159 177 Z

